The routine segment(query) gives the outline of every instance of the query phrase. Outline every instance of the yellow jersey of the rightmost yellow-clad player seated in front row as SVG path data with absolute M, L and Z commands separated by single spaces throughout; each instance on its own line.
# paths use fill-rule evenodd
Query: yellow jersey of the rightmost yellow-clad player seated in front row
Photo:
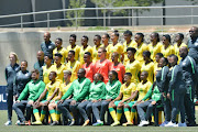
M 145 97 L 145 95 L 147 94 L 151 86 L 152 86 L 151 81 L 146 81 L 145 84 L 143 84 L 143 81 L 139 82 L 139 85 L 136 87 L 136 90 L 139 91 L 138 101 L 142 100 Z

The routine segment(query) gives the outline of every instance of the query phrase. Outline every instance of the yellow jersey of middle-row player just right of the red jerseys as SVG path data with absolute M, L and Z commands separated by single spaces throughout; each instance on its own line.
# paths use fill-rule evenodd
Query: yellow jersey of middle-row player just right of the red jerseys
M 128 61 L 127 65 L 125 65 L 125 73 L 131 73 L 132 77 L 131 77 L 131 82 L 134 84 L 139 84 L 139 73 L 141 70 L 141 65 L 139 61 L 134 61 L 133 63 L 130 63 L 130 61 Z

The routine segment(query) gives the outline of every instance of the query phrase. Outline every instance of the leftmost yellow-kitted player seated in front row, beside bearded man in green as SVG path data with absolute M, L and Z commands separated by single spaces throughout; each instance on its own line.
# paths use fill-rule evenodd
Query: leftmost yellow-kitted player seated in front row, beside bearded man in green
M 51 81 L 46 85 L 45 90 L 42 92 L 40 98 L 33 105 L 33 113 L 36 121 L 33 122 L 32 124 L 42 124 L 43 119 L 45 118 L 48 103 L 52 100 L 54 100 L 58 94 L 61 82 L 56 79 L 56 73 L 51 72 L 48 78 Z M 41 101 L 45 96 L 46 96 L 46 100 Z M 38 113 L 38 108 L 42 108 L 41 117 Z

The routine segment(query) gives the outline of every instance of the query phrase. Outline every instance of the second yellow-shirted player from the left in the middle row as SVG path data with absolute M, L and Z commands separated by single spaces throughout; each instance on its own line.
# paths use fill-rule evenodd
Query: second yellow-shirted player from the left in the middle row
M 63 70 L 66 70 L 66 66 L 61 63 L 62 57 L 63 57 L 62 54 L 59 54 L 59 53 L 55 54 L 55 57 L 54 57 L 55 66 L 52 69 L 52 70 L 56 72 L 56 74 L 57 74 L 56 79 L 58 79 L 61 82 L 64 81 Z

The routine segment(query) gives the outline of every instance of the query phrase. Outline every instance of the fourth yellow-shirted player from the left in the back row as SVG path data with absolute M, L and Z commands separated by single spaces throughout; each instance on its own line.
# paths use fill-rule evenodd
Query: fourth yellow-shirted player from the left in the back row
M 92 47 L 92 62 L 94 63 L 99 59 L 99 57 L 98 57 L 98 48 L 103 46 L 100 42 L 101 42 L 101 36 L 98 35 L 98 34 L 95 35 L 95 37 L 94 37 L 95 46 Z

